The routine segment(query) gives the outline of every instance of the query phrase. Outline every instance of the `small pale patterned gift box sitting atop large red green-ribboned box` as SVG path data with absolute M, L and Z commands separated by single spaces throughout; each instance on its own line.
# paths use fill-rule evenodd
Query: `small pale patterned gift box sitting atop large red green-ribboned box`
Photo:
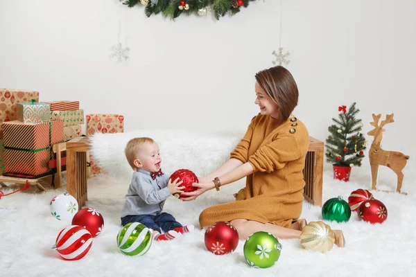
M 49 105 L 43 102 L 17 103 L 17 120 L 23 123 L 49 122 L 51 110 Z

